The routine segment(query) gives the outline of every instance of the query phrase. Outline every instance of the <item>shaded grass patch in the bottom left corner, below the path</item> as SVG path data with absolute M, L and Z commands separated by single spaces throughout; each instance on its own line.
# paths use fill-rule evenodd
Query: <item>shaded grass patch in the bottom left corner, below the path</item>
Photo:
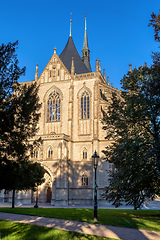
M 94 235 L 64 231 L 55 228 L 34 226 L 24 223 L 16 223 L 0 220 L 0 239 L 3 240 L 113 240 L 113 238 L 97 237 Z

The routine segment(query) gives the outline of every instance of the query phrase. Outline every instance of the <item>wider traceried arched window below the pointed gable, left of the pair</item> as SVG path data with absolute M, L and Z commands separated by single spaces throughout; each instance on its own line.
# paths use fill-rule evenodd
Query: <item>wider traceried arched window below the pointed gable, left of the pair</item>
M 53 91 L 47 101 L 47 122 L 60 121 L 61 99 L 60 94 Z

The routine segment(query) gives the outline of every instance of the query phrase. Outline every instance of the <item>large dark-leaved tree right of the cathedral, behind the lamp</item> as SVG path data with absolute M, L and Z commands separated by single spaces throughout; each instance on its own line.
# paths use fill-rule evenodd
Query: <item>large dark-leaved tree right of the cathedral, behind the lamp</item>
M 128 72 L 120 96 L 113 93 L 104 127 L 116 139 L 103 152 L 115 170 L 104 197 L 116 207 L 140 208 L 160 193 L 160 68 Z

